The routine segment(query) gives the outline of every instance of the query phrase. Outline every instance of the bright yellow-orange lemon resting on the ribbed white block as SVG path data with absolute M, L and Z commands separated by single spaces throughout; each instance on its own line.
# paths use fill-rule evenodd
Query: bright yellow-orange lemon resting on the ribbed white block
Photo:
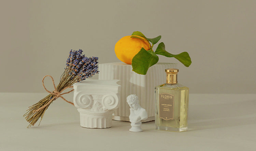
M 145 39 L 143 37 L 140 38 Z M 131 64 L 132 58 L 141 50 L 142 47 L 145 50 L 150 50 L 150 44 L 148 41 L 146 41 L 146 39 L 142 39 L 125 36 L 118 40 L 115 45 L 117 58 L 124 63 Z

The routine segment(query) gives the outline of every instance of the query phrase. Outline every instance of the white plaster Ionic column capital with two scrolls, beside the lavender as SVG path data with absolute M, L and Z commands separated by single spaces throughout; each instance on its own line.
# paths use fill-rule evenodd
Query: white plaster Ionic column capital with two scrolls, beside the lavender
M 110 128 L 119 105 L 119 80 L 85 80 L 75 83 L 74 105 L 84 128 Z

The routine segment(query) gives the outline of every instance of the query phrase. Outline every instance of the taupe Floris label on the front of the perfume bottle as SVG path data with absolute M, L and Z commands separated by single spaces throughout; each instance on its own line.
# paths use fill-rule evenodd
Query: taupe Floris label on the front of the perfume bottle
M 159 94 L 159 117 L 164 120 L 173 119 L 174 95 L 169 93 Z

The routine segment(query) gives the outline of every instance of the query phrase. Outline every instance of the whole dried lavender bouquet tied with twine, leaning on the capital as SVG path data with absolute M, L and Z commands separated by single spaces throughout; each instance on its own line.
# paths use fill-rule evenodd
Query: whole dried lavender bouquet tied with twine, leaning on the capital
M 63 94 L 70 93 L 74 89 L 62 93 L 63 90 L 73 87 L 72 85 L 76 82 L 80 82 L 85 80 L 86 78 L 92 77 L 94 74 L 98 73 L 98 57 L 86 57 L 82 55 L 82 50 L 71 50 L 69 53 L 69 57 L 66 63 L 65 71 L 62 73 L 60 82 L 57 87 L 54 84 L 54 80 L 52 76 L 46 75 L 46 77 L 50 77 L 53 81 L 54 91 L 49 91 L 44 86 L 44 78 L 42 80 L 44 89 L 50 93 L 48 96 L 40 100 L 38 103 L 30 106 L 27 110 L 27 113 L 23 115 L 26 117 L 26 120 L 30 123 L 28 127 L 34 126 L 34 124 L 38 121 L 41 117 L 41 120 L 44 116 L 45 111 L 49 107 L 49 105 L 56 100 L 58 97 L 62 98 L 66 102 L 74 105 L 72 102 L 67 101 L 65 98 L 62 97 Z M 40 122 L 41 122 L 40 120 Z M 39 123 L 40 124 L 40 123 Z

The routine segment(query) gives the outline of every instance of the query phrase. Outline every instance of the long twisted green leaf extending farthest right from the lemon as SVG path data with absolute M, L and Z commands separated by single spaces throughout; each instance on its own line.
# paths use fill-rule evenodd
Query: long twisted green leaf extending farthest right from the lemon
M 160 54 L 167 57 L 175 57 L 183 65 L 189 67 L 191 65 L 191 58 L 187 52 L 182 52 L 180 54 L 171 54 L 165 50 L 165 44 L 160 43 L 156 48 L 155 54 Z

